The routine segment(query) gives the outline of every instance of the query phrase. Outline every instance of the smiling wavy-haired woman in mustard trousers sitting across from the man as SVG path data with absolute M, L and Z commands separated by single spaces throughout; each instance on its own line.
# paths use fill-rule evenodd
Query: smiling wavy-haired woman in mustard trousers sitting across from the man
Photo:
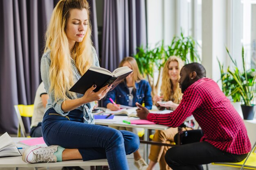
M 182 92 L 180 89 L 179 78 L 180 70 L 183 67 L 183 61 L 176 56 L 171 56 L 164 64 L 163 74 L 162 74 L 162 85 L 161 85 L 161 96 L 155 95 L 153 101 L 159 110 L 171 109 L 175 110 L 182 100 Z M 164 104 L 158 104 L 159 101 L 166 101 Z M 186 122 L 187 125 L 188 122 Z M 193 126 L 192 126 L 193 127 Z M 183 128 L 183 131 L 191 130 L 191 126 Z M 167 130 L 161 131 L 156 130 L 153 141 L 162 143 L 172 143 L 174 142 L 174 136 L 177 134 L 178 128 L 169 128 Z M 156 163 L 159 162 L 160 170 L 171 170 L 167 165 L 164 155 L 170 146 L 150 146 L 150 154 L 148 159 L 150 162 L 148 167 L 143 170 L 153 170 Z

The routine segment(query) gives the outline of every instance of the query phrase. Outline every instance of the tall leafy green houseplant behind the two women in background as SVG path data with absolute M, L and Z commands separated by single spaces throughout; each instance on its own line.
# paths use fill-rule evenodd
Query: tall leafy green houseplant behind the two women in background
M 155 48 L 150 49 L 148 46 L 137 48 L 137 53 L 134 55 L 141 74 L 148 79 L 151 88 L 152 95 L 157 94 L 159 87 L 159 80 L 161 70 L 164 63 L 170 56 L 181 57 L 184 63 L 200 61 L 198 54 L 198 43 L 192 37 L 184 37 L 183 33 L 180 36 L 173 37 L 171 45 L 164 46 L 164 41 L 161 44 L 157 44 Z M 154 77 L 154 72 L 158 72 L 158 76 Z M 156 84 L 154 84 L 156 80 Z

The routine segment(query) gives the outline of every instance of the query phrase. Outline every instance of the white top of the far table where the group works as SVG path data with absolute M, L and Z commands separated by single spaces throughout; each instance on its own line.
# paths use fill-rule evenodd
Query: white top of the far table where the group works
M 95 124 L 107 125 L 107 126 L 121 126 L 121 127 L 134 127 L 154 130 L 166 130 L 169 127 L 160 124 L 127 124 L 123 120 L 136 119 L 128 116 L 114 116 L 114 119 L 95 119 Z

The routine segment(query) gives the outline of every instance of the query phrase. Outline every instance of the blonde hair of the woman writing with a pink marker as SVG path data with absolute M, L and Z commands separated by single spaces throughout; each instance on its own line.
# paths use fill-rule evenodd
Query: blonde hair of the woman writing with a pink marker
M 135 82 L 141 81 L 143 77 L 139 73 L 138 64 L 133 57 L 125 57 L 124 59 L 122 59 L 121 63 L 119 64 L 119 67 L 122 67 L 125 62 L 128 62 L 132 66 L 132 70 L 133 70 L 132 86 L 133 86 L 133 89 L 135 89 Z

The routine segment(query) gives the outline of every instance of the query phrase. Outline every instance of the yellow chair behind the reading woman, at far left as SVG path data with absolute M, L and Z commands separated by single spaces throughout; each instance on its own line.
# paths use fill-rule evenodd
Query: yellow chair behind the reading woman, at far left
M 32 117 L 34 113 L 34 105 L 14 105 L 14 109 L 19 120 L 17 137 L 20 137 L 20 135 L 22 137 L 29 137 L 27 136 L 28 132 L 25 130 L 21 116 Z

